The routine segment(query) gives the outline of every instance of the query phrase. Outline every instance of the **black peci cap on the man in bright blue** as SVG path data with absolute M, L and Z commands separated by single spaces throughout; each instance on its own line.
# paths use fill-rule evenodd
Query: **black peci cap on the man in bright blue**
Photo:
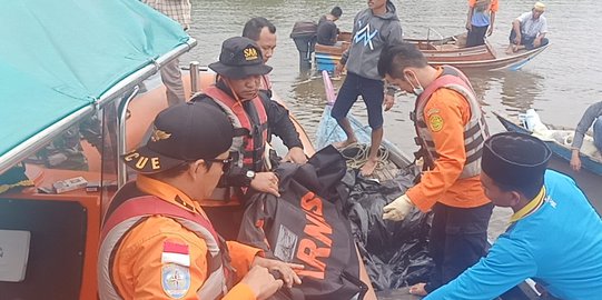
M 540 139 L 517 132 L 502 132 L 485 141 L 481 169 L 497 183 L 513 188 L 543 184 L 550 148 Z

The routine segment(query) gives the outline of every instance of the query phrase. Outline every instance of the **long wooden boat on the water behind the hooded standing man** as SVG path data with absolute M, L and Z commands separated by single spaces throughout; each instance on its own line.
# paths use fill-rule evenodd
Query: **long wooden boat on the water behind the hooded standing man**
M 404 41 L 416 44 L 428 63 L 433 66 L 450 64 L 462 70 L 519 70 L 550 46 L 506 54 L 505 48 L 495 49 L 488 41 L 481 46 L 466 48 L 463 42 L 465 36 L 464 33 L 441 39 L 409 38 Z M 342 43 L 337 46 L 316 44 L 315 60 L 318 71 L 332 72 L 343 52 L 349 48 L 351 34 L 341 34 L 339 38 Z

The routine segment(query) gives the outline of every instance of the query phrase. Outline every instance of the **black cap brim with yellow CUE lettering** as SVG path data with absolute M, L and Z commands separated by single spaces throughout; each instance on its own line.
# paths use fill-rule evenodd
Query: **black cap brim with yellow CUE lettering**
M 142 174 L 152 174 L 169 170 L 182 164 L 185 161 L 159 154 L 142 146 L 127 154 L 121 156 L 126 166 Z

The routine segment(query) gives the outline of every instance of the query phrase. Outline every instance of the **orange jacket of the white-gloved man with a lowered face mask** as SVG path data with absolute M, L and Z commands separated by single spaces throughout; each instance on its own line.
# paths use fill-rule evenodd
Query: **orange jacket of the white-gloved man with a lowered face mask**
M 441 76 L 443 69 L 438 71 Z M 435 114 L 441 118 L 432 118 Z M 438 158 L 434 168 L 424 172 L 421 182 L 407 190 L 406 196 L 425 212 L 437 201 L 457 208 L 488 203 L 478 176 L 458 179 L 466 161 L 464 126 L 471 119 L 467 100 L 451 89 L 438 89 L 424 108 L 424 119 L 427 120 Z M 437 120 L 436 126 L 428 120 Z

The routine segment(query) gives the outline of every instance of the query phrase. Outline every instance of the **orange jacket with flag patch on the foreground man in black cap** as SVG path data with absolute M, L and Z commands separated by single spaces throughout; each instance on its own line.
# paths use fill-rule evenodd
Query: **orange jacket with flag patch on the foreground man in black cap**
M 174 200 L 166 201 L 205 214 L 196 201 L 169 184 L 144 176 L 139 176 L 136 183 L 138 189 L 164 200 L 176 199 L 176 196 L 179 196 L 184 200 L 184 206 Z M 161 254 L 166 241 L 188 246 L 190 287 L 179 299 L 198 299 L 196 292 L 208 276 L 207 244 L 177 221 L 161 216 L 150 217 L 134 228 L 124 237 L 116 251 L 112 277 L 115 288 L 124 299 L 171 299 L 162 287 Z M 248 272 L 249 266 L 260 250 L 238 242 L 229 241 L 227 244 L 238 282 Z M 246 300 L 256 297 L 247 284 L 238 283 L 223 299 Z

